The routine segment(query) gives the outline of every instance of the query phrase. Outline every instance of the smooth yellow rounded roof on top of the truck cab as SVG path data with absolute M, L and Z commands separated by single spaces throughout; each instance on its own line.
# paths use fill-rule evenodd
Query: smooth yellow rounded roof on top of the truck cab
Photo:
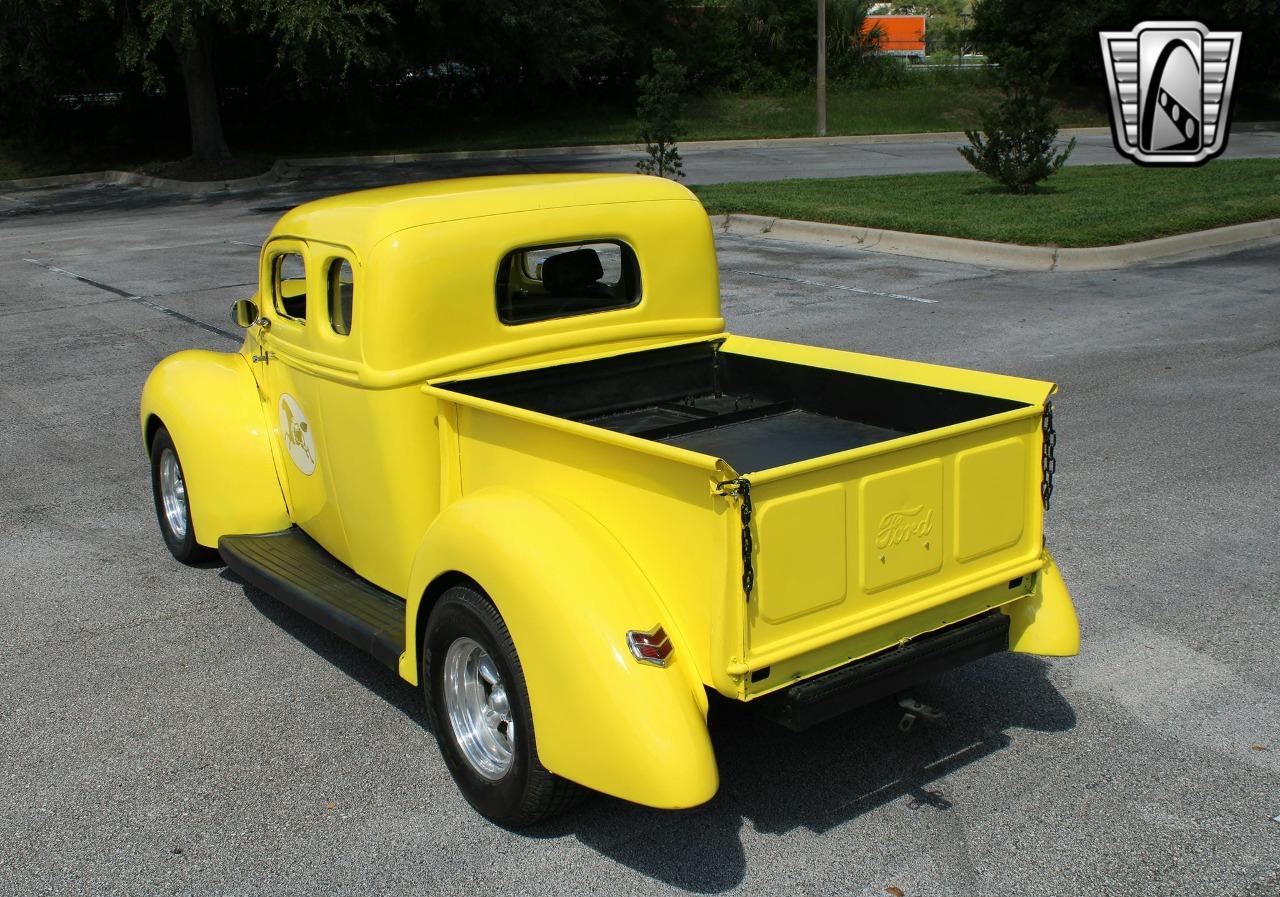
M 641 174 L 513 174 L 426 180 L 330 196 L 287 211 L 271 238 L 339 243 L 357 253 L 406 228 L 467 218 L 613 202 L 694 200 L 666 178 Z

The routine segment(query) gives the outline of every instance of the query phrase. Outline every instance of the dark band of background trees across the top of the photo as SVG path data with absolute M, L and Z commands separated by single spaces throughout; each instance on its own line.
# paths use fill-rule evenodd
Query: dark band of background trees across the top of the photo
M 963 4 L 899 8 L 928 14 L 933 49 L 954 49 Z M 863 37 L 867 9 L 827 0 L 828 75 L 895 87 L 908 75 Z M 814 12 L 813 0 L 0 0 L 0 139 L 32 156 L 279 152 L 297 150 L 307 122 L 308 148 L 420 142 L 567 104 L 630 107 L 654 46 L 675 51 L 691 93 L 804 90 Z M 1243 29 L 1236 102 L 1274 95 L 1280 0 L 977 0 L 972 31 L 1001 70 L 1101 109 L 1096 31 L 1162 18 Z

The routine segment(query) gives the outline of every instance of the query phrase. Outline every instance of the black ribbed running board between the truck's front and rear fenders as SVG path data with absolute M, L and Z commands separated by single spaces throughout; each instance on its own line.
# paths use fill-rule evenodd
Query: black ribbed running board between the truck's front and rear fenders
M 390 669 L 404 651 L 404 601 L 357 576 L 297 527 L 223 536 L 218 553 L 251 586 Z

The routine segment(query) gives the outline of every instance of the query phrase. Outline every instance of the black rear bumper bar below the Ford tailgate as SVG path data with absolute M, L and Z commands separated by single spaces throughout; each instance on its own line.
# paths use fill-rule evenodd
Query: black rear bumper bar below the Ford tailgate
M 799 732 L 1007 649 L 1009 617 L 1000 610 L 989 610 L 771 692 L 751 705 L 769 719 Z

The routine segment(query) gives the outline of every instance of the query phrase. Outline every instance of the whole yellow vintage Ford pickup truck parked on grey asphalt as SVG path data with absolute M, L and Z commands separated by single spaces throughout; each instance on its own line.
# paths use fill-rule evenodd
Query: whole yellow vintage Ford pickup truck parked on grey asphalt
M 143 388 L 164 540 L 420 686 L 495 822 L 703 804 L 713 694 L 799 729 L 1078 650 L 1055 386 L 726 333 L 684 187 L 337 196 L 279 220 L 257 283 L 238 352 Z

